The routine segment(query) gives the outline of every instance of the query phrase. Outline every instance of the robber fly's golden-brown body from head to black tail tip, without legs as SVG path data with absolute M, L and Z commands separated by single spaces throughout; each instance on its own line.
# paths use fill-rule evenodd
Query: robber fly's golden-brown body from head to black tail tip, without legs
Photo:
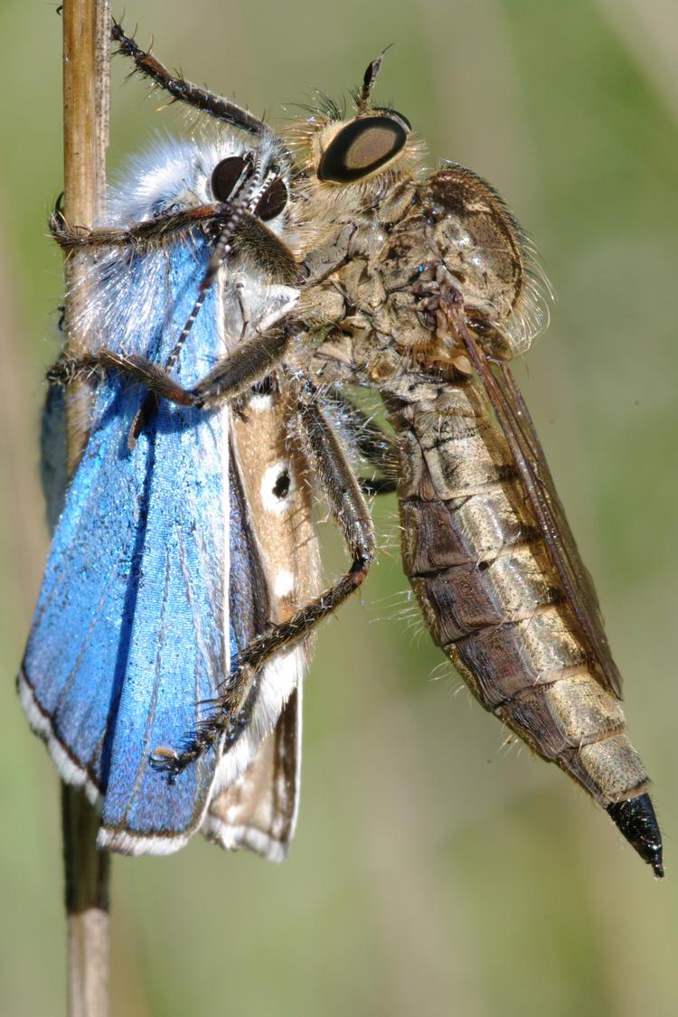
M 293 132 L 305 167 L 297 213 L 324 215 L 305 261 L 317 282 L 301 301 L 324 337 L 310 373 L 383 400 L 405 570 L 435 643 L 661 875 L 596 595 L 507 366 L 548 320 L 548 284 L 485 181 L 456 164 L 424 176 L 408 121 L 369 106 L 375 72 L 355 117 L 328 111 Z

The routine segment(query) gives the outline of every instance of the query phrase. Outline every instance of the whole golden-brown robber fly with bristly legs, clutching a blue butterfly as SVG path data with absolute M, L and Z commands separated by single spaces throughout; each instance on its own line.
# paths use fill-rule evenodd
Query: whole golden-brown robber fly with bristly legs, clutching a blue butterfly
M 205 109 L 223 102 L 124 46 L 176 97 Z M 404 564 L 434 641 L 481 703 L 603 804 L 661 876 L 648 777 L 623 733 L 598 602 L 508 366 L 545 316 L 530 250 L 470 170 L 445 164 L 425 177 L 408 120 L 372 104 L 380 63 L 368 67 L 353 116 L 325 103 L 287 135 L 300 296 L 271 330 L 192 384 L 115 350 L 62 365 L 118 372 L 161 405 L 198 413 L 274 370 L 352 555 L 335 584 L 237 654 L 209 715 L 180 741 L 150 746 L 150 763 L 172 785 L 210 754 L 228 759 L 256 710 L 263 665 L 367 574 L 375 542 L 365 485 L 332 421 L 337 407 L 359 419 L 344 388 L 365 385 L 381 396 L 394 437 L 363 421 L 357 444 L 383 475 L 370 489 L 396 477 Z

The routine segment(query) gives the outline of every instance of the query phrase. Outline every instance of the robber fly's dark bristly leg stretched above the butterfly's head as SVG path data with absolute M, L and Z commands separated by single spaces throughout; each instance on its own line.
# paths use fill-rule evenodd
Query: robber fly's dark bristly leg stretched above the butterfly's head
M 200 88 L 198 85 L 170 73 L 167 67 L 150 53 L 142 50 L 130 36 L 126 36 L 122 25 L 118 24 L 117 21 L 113 22 L 111 38 L 114 43 L 119 44 L 118 52 L 133 60 L 134 69 L 143 77 L 150 78 L 175 102 L 187 103 L 189 106 L 193 106 L 203 113 L 208 113 L 219 120 L 226 120 L 227 123 L 234 124 L 250 134 L 261 134 L 265 129 L 264 124 L 247 110 L 241 109 L 228 99 L 207 92 L 206 88 Z

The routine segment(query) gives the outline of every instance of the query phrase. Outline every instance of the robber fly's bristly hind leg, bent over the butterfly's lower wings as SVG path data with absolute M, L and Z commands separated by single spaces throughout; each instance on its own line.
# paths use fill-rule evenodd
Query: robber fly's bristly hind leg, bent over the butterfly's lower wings
M 228 689 L 185 744 L 178 750 L 159 746 L 156 767 L 176 774 L 210 745 L 225 740 L 228 750 L 251 722 L 263 664 L 286 646 L 299 642 L 331 614 L 361 585 L 374 558 L 374 528 L 369 508 L 331 426 L 314 398 L 302 393 L 298 403 L 299 436 L 309 464 L 309 475 L 319 483 L 331 515 L 351 554 L 349 571 L 287 621 L 273 625 L 240 656 Z

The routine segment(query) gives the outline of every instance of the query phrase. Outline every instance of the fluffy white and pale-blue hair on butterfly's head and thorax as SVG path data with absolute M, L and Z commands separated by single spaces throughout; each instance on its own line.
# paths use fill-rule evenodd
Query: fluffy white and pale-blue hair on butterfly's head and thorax
M 195 130 L 186 138 L 157 136 L 146 151 L 128 160 L 109 193 L 104 227 L 126 230 L 140 223 L 152 223 L 191 210 L 215 205 L 211 175 L 219 163 L 234 156 L 260 154 L 261 175 L 273 167 L 288 182 L 289 159 L 281 141 L 269 132 L 248 135 L 224 124 L 209 130 Z M 203 221 L 204 222 L 204 221 Z M 225 219 L 225 222 L 227 220 Z M 81 312 L 81 325 L 89 335 L 121 351 L 143 352 L 142 337 L 155 328 L 160 295 L 167 288 L 167 265 L 177 245 L 187 250 L 194 237 L 206 226 L 182 232 L 159 234 L 148 247 L 137 252 L 137 267 L 129 272 L 130 251 L 134 248 L 104 248 L 93 268 L 95 285 L 86 280 L 87 297 Z M 219 232 L 219 227 L 217 226 Z M 290 210 L 265 223 L 266 230 L 283 243 L 290 243 Z M 215 240 L 214 240 L 215 243 Z M 220 271 L 219 286 L 222 322 L 219 331 L 225 341 L 224 352 L 247 339 L 265 332 L 299 298 L 299 290 L 271 278 L 264 265 L 241 256 L 238 241 L 228 253 Z M 96 296 L 91 297 L 95 293 Z

